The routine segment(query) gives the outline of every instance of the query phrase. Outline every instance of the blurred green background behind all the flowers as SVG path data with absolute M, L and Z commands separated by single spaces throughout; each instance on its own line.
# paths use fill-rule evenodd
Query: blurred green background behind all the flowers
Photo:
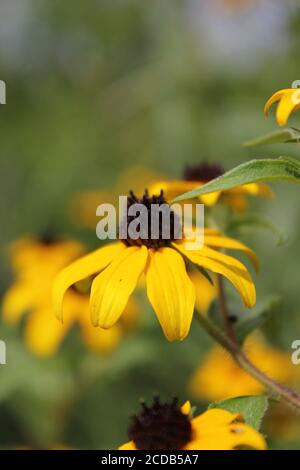
M 298 145 L 242 142 L 275 128 L 263 104 L 300 78 L 299 25 L 297 2 L 280 0 L 2 0 L 1 295 L 12 279 L 11 241 L 51 229 L 98 245 L 95 231 L 69 216 L 78 191 L 113 192 L 126 175 L 134 189 L 132 168 L 178 178 L 203 159 L 229 169 L 256 156 L 297 157 Z M 290 351 L 300 337 L 299 196 L 294 186 L 274 190 L 273 201 L 254 201 L 251 210 L 266 214 L 286 243 L 277 247 L 264 230 L 243 240 L 261 260 L 259 299 L 282 296 L 265 334 Z M 188 398 L 211 342 L 194 324 L 187 340 L 168 343 L 138 295 L 137 329 L 107 356 L 86 349 L 74 328 L 58 354 L 39 359 L 24 345 L 22 325 L 1 323 L 1 447 L 114 448 L 140 397 Z M 270 446 L 300 448 L 300 435 Z

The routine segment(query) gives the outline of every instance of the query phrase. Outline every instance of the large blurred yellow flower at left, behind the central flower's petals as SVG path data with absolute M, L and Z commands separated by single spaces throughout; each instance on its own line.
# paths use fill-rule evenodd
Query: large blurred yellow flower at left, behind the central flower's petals
M 86 345 L 97 352 L 108 352 L 119 343 L 123 325 L 111 330 L 94 328 L 90 322 L 89 293 L 76 286 L 66 296 L 65 317 L 61 324 L 52 308 L 51 290 L 57 273 L 84 253 L 84 247 L 73 240 L 26 238 L 11 246 L 11 264 L 15 281 L 3 299 L 3 319 L 16 325 L 27 313 L 25 341 L 39 356 L 54 354 L 75 324 L 80 326 Z M 137 306 L 132 300 L 124 319 L 136 316 Z

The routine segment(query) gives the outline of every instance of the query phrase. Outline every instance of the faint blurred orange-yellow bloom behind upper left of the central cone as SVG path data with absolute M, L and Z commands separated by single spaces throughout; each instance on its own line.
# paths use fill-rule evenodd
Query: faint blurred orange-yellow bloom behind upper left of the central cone
M 95 189 L 76 193 L 70 203 L 72 220 L 83 227 L 95 229 L 98 222 L 96 209 L 99 204 L 113 204 L 117 207 L 118 196 L 127 194 L 128 187 L 136 188 L 136 192 L 140 194 L 159 177 L 161 176 L 153 170 L 136 166 L 124 171 L 117 184 L 109 191 Z

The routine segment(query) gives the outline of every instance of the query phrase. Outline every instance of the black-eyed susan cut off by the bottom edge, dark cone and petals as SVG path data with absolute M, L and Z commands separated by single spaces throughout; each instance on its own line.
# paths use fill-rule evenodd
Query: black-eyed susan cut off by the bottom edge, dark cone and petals
M 180 407 L 177 399 L 161 403 L 156 398 L 151 407 L 143 404 L 128 434 L 130 441 L 119 450 L 266 449 L 261 434 L 238 413 L 215 408 L 193 418 L 190 403 Z

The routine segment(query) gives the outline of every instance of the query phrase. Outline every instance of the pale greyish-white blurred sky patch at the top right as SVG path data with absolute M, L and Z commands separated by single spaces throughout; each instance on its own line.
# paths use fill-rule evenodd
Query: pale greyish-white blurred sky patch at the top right
M 187 1 L 188 18 L 201 52 L 211 60 L 249 70 L 266 54 L 276 55 L 286 49 L 296 1 L 253 0 L 253 6 L 235 12 L 220 5 L 221 0 Z

